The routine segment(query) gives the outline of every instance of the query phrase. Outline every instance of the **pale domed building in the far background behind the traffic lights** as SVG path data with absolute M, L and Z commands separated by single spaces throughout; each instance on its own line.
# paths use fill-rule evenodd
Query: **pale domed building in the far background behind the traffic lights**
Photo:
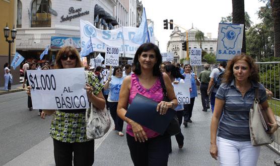
M 189 52 L 191 48 L 200 48 L 199 41 L 195 40 L 195 34 L 197 32 L 193 27 L 188 31 Z M 174 62 L 180 62 L 180 59 L 186 58 L 186 51 L 182 50 L 182 43 L 186 41 L 186 32 L 181 32 L 178 27 L 174 27 L 170 35 L 170 40 L 167 43 L 167 52 L 172 52 L 174 55 Z M 216 54 L 217 50 L 217 38 L 212 38 L 211 33 L 207 33 L 204 36 L 204 40 L 201 42 L 201 48 L 207 53 Z

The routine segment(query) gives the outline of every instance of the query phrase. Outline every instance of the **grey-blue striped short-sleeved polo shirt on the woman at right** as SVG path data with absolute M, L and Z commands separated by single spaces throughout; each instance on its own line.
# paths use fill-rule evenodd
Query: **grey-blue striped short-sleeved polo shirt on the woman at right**
M 224 100 L 223 114 L 219 122 L 218 136 L 237 141 L 250 141 L 249 112 L 255 98 L 255 88 L 259 88 L 260 103 L 266 100 L 265 88 L 262 84 L 251 82 L 251 89 L 242 97 L 235 86 L 223 83 L 216 97 Z

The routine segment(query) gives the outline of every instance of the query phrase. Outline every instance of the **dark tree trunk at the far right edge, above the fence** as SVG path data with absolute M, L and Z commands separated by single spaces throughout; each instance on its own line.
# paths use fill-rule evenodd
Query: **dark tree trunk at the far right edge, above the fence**
M 274 56 L 280 57 L 280 0 L 270 0 L 274 28 Z

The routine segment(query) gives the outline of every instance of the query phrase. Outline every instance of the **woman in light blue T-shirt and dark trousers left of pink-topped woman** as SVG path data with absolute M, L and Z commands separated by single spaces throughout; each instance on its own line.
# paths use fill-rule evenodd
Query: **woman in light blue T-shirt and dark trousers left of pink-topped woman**
M 114 68 L 113 77 L 108 77 L 108 80 L 104 84 L 104 90 L 109 89 L 108 102 L 111 116 L 115 123 L 115 130 L 118 131 L 119 136 L 123 136 L 123 120 L 117 115 L 117 106 L 119 101 L 119 91 L 125 76 L 122 75 L 122 67 L 118 66 Z

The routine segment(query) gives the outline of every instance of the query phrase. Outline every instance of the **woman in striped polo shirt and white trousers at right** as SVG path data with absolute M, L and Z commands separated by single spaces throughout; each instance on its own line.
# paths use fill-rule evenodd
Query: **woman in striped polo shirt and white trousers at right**
M 235 56 L 229 62 L 223 78 L 224 83 L 216 94 L 211 121 L 210 153 L 213 158 L 219 158 L 220 165 L 256 165 L 260 146 L 251 145 L 249 130 L 249 112 L 256 88 L 260 104 L 270 120 L 270 133 L 278 127 L 269 108 L 265 88 L 258 83 L 258 67 L 250 56 Z

